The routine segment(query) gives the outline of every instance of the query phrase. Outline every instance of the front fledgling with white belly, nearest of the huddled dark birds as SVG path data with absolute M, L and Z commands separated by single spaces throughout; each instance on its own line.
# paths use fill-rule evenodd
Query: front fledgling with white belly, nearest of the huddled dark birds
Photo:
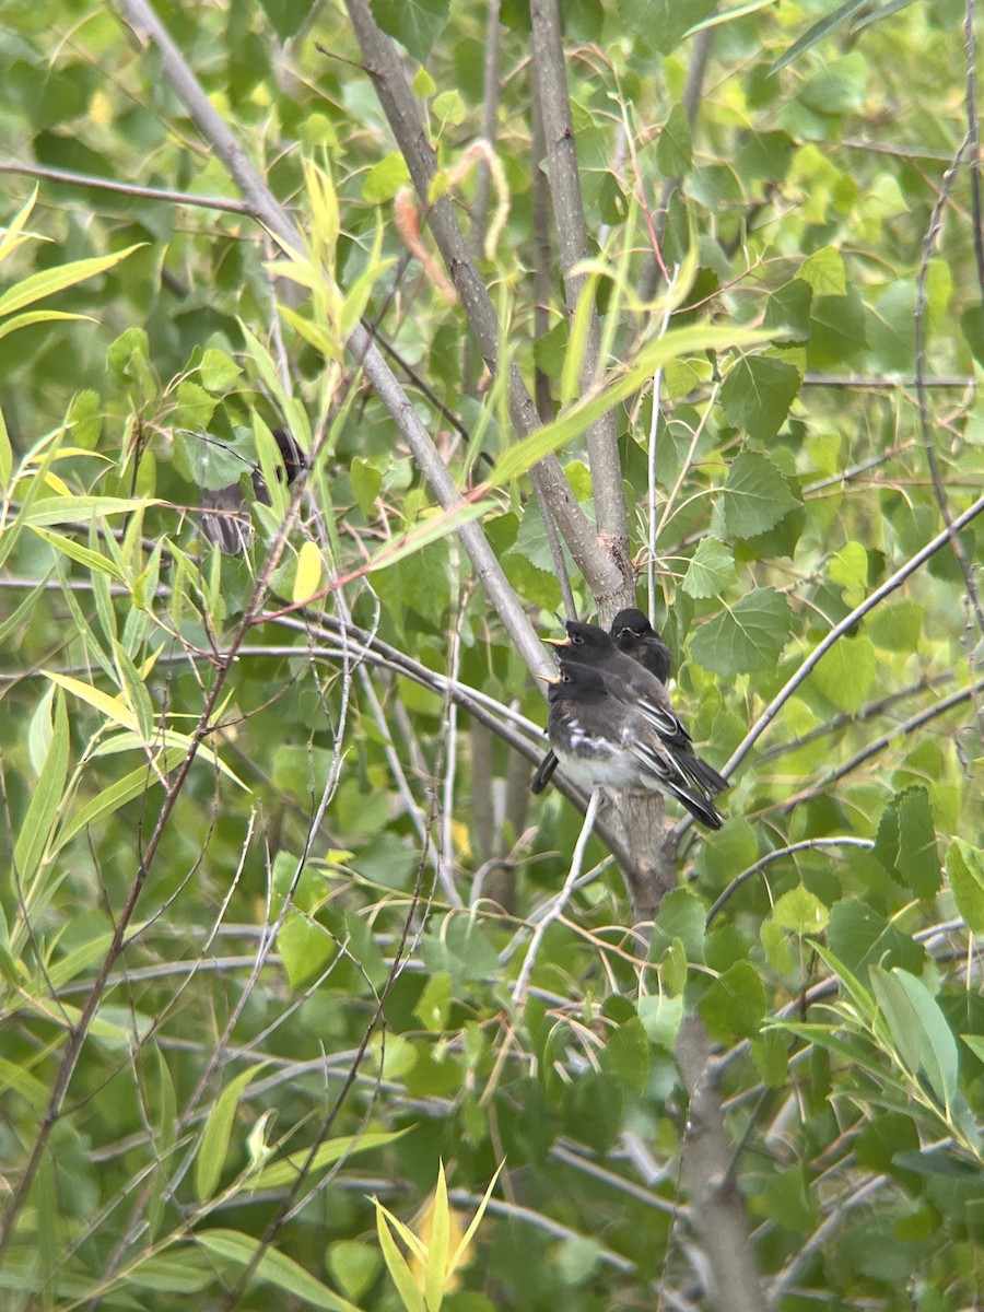
M 584 789 L 648 790 L 685 806 L 708 829 L 723 820 L 684 771 L 648 715 L 614 697 L 605 674 L 593 665 L 560 661 L 550 681 L 547 735 L 565 773 Z

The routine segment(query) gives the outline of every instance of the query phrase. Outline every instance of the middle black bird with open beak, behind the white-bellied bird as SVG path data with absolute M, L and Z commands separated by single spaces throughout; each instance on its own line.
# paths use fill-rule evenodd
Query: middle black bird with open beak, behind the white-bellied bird
M 674 756 L 677 766 L 702 796 L 712 798 L 716 792 L 723 792 L 728 787 L 727 779 L 697 756 L 690 735 L 680 723 L 660 680 L 621 651 L 611 635 L 597 625 L 568 619 L 564 627 L 565 639 L 546 638 L 544 642 L 559 647 L 563 660 L 600 670 L 611 697 L 635 706 L 649 720 L 664 747 Z M 541 761 L 530 785 L 534 792 L 546 787 L 556 769 L 556 754 L 552 753 L 552 757 L 551 760 L 551 753 L 547 753 Z

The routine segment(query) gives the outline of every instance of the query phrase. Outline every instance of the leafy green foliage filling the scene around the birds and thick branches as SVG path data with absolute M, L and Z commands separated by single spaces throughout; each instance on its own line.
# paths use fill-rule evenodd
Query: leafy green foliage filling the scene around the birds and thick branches
M 653 1282 L 707 1302 L 681 1210 L 694 1013 L 779 1312 L 981 1302 L 980 635 L 953 551 L 853 617 L 778 707 L 724 828 L 685 836 L 651 939 L 598 838 L 593 878 L 554 904 L 580 816 L 529 799 L 529 762 L 442 682 L 544 747 L 457 530 L 484 533 L 554 634 L 529 471 L 555 451 L 594 522 L 584 433 L 613 408 L 643 576 L 656 548 L 639 601 L 718 766 L 943 527 L 926 440 L 950 518 L 975 502 L 984 290 L 966 176 L 943 181 L 966 135 L 960 13 L 563 10 L 598 248 L 577 319 L 558 297 L 539 340 L 530 13 L 501 10 L 501 232 L 479 269 L 504 363 L 539 369 L 558 415 L 525 440 L 420 258 L 422 210 L 394 219 L 409 172 L 341 8 L 161 10 L 298 219 L 293 255 L 201 202 L 235 188 L 110 9 L 5 13 L 5 135 L 80 176 L 12 165 L 0 216 L 4 1208 L 51 1128 L 4 1307 L 594 1312 L 652 1305 Z M 471 237 L 482 16 L 373 13 Z M 691 123 L 687 33 L 708 21 Z M 680 180 L 664 228 L 653 178 Z M 466 509 L 436 505 L 346 353 L 363 316 Z M 939 384 L 926 432 L 917 369 Z M 274 429 L 311 457 L 297 499 Z M 203 533 L 227 489 L 241 554 Z

